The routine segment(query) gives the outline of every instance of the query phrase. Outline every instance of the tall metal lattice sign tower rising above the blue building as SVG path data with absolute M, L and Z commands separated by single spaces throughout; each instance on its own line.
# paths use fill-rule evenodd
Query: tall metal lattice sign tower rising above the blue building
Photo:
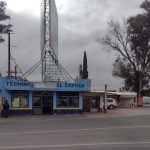
M 73 80 L 58 61 L 58 14 L 54 0 L 42 0 L 41 60 L 42 81 Z

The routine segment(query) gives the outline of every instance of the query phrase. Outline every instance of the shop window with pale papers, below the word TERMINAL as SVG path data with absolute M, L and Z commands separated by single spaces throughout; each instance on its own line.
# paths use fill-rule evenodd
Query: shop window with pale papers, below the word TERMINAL
M 12 92 L 12 108 L 27 108 L 29 107 L 28 92 L 14 91 Z

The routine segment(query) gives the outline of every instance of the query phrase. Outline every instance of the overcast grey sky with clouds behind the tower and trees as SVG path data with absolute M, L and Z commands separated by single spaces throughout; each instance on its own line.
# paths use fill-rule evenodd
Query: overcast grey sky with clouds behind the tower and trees
M 23 72 L 40 59 L 41 0 L 5 0 L 13 25 L 11 51 Z M 115 54 L 106 52 L 96 38 L 104 36 L 110 19 L 122 20 L 139 13 L 144 0 L 55 0 L 59 15 L 59 60 L 72 77 L 78 76 L 87 52 L 89 78 L 94 89 L 119 89 L 122 80 L 112 77 Z M 7 36 L 0 45 L 0 71 L 7 70 Z M 30 80 L 40 81 L 40 68 Z

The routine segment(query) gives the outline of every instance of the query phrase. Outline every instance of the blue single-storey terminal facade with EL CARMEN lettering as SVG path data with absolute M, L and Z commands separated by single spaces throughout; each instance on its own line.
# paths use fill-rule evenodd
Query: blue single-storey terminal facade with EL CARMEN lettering
M 91 80 L 30 82 L 21 77 L 0 78 L 0 100 L 10 104 L 10 114 L 82 113 L 80 92 L 91 90 Z

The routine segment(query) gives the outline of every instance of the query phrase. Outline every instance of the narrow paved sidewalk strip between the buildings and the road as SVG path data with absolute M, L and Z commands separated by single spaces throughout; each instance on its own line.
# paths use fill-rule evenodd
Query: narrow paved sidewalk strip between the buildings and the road
M 150 106 L 138 108 L 116 108 L 104 112 L 87 112 L 83 114 L 66 114 L 66 115 L 25 115 L 25 116 L 10 116 L 9 118 L 0 117 L 0 122 L 14 120 L 14 119 L 76 119 L 76 118 L 111 118 L 111 117 L 128 117 L 128 116 L 141 116 L 150 115 Z

